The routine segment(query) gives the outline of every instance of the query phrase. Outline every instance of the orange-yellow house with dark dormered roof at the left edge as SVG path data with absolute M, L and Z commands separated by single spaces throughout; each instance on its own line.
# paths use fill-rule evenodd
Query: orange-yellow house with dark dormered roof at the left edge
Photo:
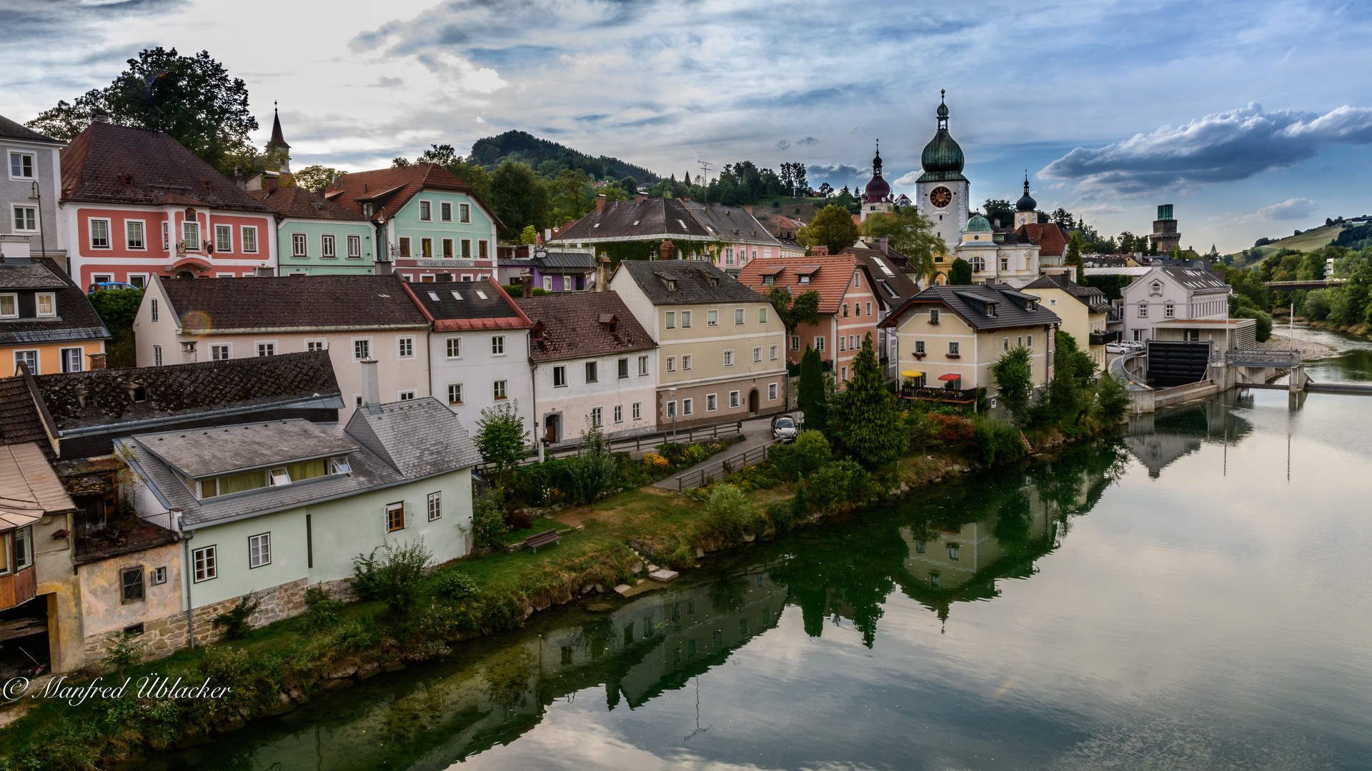
M 0 376 L 21 364 L 32 375 L 103 369 L 110 332 L 91 300 L 55 262 L 29 258 L 27 247 L 27 237 L 0 244 Z

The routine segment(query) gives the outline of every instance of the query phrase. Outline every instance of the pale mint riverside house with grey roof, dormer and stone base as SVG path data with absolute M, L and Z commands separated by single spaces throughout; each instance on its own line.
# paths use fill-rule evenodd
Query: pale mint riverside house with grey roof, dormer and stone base
M 471 436 L 432 398 L 376 403 L 370 366 L 346 427 L 276 420 L 117 440 L 139 475 L 139 516 L 170 519 L 181 538 L 195 642 L 213 642 L 214 617 L 247 594 L 258 626 L 303 612 L 310 586 L 347 593 L 353 558 L 387 543 L 423 539 L 436 562 L 471 551 Z

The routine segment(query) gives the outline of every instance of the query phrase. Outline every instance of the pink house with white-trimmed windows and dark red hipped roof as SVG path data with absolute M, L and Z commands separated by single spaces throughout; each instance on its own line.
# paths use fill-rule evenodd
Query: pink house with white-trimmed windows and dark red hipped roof
M 270 207 L 167 134 L 100 117 L 62 150 L 62 220 L 81 287 L 277 265 Z

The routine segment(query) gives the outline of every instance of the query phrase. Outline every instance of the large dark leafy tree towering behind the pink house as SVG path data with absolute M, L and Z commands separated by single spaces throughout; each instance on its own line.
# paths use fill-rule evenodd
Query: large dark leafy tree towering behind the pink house
M 181 56 L 176 48 L 147 48 L 128 64 L 108 86 L 74 103 L 58 102 L 29 128 L 70 140 L 89 125 L 92 110 L 102 108 L 121 126 L 161 128 L 221 173 L 232 173 L 241 156 L 254 154 L 248 133 L 258 122 L 248 111 L 247 84 L 230 78 L 209 51 Z

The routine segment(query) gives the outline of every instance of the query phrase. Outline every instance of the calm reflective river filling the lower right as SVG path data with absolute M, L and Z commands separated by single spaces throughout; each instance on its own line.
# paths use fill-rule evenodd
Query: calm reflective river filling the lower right
M 1368 396 L 1180 405 L 147 767 L 1369 768 L 1369 428 Z

